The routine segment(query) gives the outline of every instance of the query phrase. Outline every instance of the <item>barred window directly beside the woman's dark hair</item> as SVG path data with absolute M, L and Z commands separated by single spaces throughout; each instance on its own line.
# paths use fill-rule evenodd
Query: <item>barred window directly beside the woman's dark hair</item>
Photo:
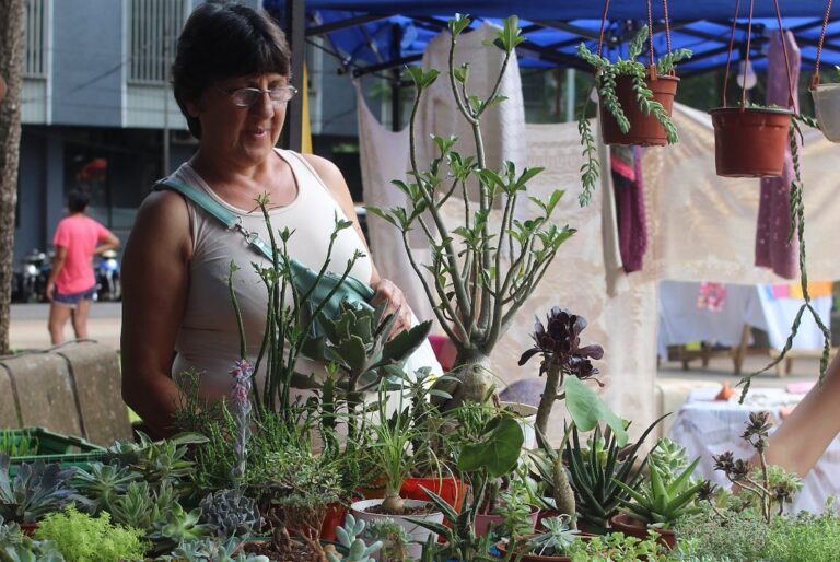
M 163 84 L 168 80 L 175 45 L 186 20 L 186 0 L 131 0 L 128 80 Z

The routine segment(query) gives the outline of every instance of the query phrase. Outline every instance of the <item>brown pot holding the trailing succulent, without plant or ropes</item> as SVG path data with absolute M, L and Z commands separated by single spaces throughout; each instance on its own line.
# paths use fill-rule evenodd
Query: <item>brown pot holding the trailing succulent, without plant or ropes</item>
M 656 80 L 648 78 L 645 83 L 651 92 L 653 92 L 653 98 L 661 103 L 665 112 L 670 116 L 679 79 L 665 74 L 657 77 Z M 599 103 L 600 136 L 605 144 L 664 147 L 668 143 L 665 127 L 656 120 L 656 117 L 652 114 L 645 114 L 639 107 L 639 102 L 637 102 L 635 92 L 633 91 L 632 78 L 621 75 L 616 79 L 616 96 L 621 104 L 621 109 L 623 109 L 627 120 L 630 121 L 630 130 L 627 133 L 621 132 L 618 121 L 609 113 L 609 109 L 604 106 L 602 101 Z

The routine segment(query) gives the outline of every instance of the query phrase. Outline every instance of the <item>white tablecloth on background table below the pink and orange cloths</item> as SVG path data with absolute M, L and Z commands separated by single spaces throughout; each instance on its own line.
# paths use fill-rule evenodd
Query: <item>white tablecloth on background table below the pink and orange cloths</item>
M 740 342 L 745 325 L 765 330 L 770 339 L 770 347 L 782 349 L 791 332 L 793 319 L 805 301 L 773 297 L 771 286 L 726 284 L 722 308 L 710 311 L 697 305 L 700 283 L 663 281 L 660 283 L 657 352 L 667 356 L 668 346 L 681 346 L 691 341 L 734 347 Z M 822 321 L 828 325 L 831 297 L 812 297 L 812 304 Z M 802 317 L 793 349 L 822 349 L 822 332 L 808 312 Z

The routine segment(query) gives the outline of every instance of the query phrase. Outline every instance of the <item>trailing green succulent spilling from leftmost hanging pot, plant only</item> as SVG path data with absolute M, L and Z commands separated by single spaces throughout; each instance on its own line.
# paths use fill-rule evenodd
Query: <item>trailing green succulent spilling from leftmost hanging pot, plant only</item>
M 675 144 L 679 141 L 677 128 L 662 104 L 653 98 L 653 92 L 648 87 L 651 69 L 637 60 L 644 49 L 648 33 L 649 28 L 645 25 L 633 36 L 628 47 L 627 59 L 618 57 L 616 62 L 611 62 L 608 58 L 592 52 L 585 43 L 581 43 L 578 46 L 578 56 L 595 69 L 595 89 L 598 91 L 598 96 L 604 107 L 616 118 L 621 132 L 627 134 L 630 131 L 630 121 L 625 114 L 625 109 L 621 107 L 621 103 L 616 94 L 616 87 L 618 78 L 626 75 L 632 80 L 632 87 L 639 107 L 645 115 L 653 114 L 665 129 L 668 144 Z M 689 49 L 677 49 L 667 52 L 656 61 L 654 66 L 655 73 L 657 75 L 668 74 L 674 71 L 678 62 L 689 58 L 691 58 Z M 578 132 L 581 134 L 581 144 L 584 147 L 583 155 L 586 157 L 586 163 L 581 168 L 581 180 L 583 182 L 583 192 L 580 196 L 581 206 L 588 203 L 600 171 L 600 165 L 595 156 L 598 152 L 595 145 L 595 138 L 586 119 L 587 107 L 588 98 L 582 105 L 578 117 Z

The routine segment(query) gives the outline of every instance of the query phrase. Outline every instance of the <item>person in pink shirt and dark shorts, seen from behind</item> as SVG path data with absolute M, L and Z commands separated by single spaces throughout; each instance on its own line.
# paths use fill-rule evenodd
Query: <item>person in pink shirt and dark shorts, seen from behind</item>
M 56 257 L 47 280 L 47 298 L 54 346 L 65 340 L 65 326 L 71 316 L 75 338 L 88 337 L 88 314 L 96 291 L 93 256 L 119 246 L 113 232 L 84 214 L 89 202 L 88 194 L 71 191 L 67 201 L 70 215 L 58 223 L 52 237 Z

